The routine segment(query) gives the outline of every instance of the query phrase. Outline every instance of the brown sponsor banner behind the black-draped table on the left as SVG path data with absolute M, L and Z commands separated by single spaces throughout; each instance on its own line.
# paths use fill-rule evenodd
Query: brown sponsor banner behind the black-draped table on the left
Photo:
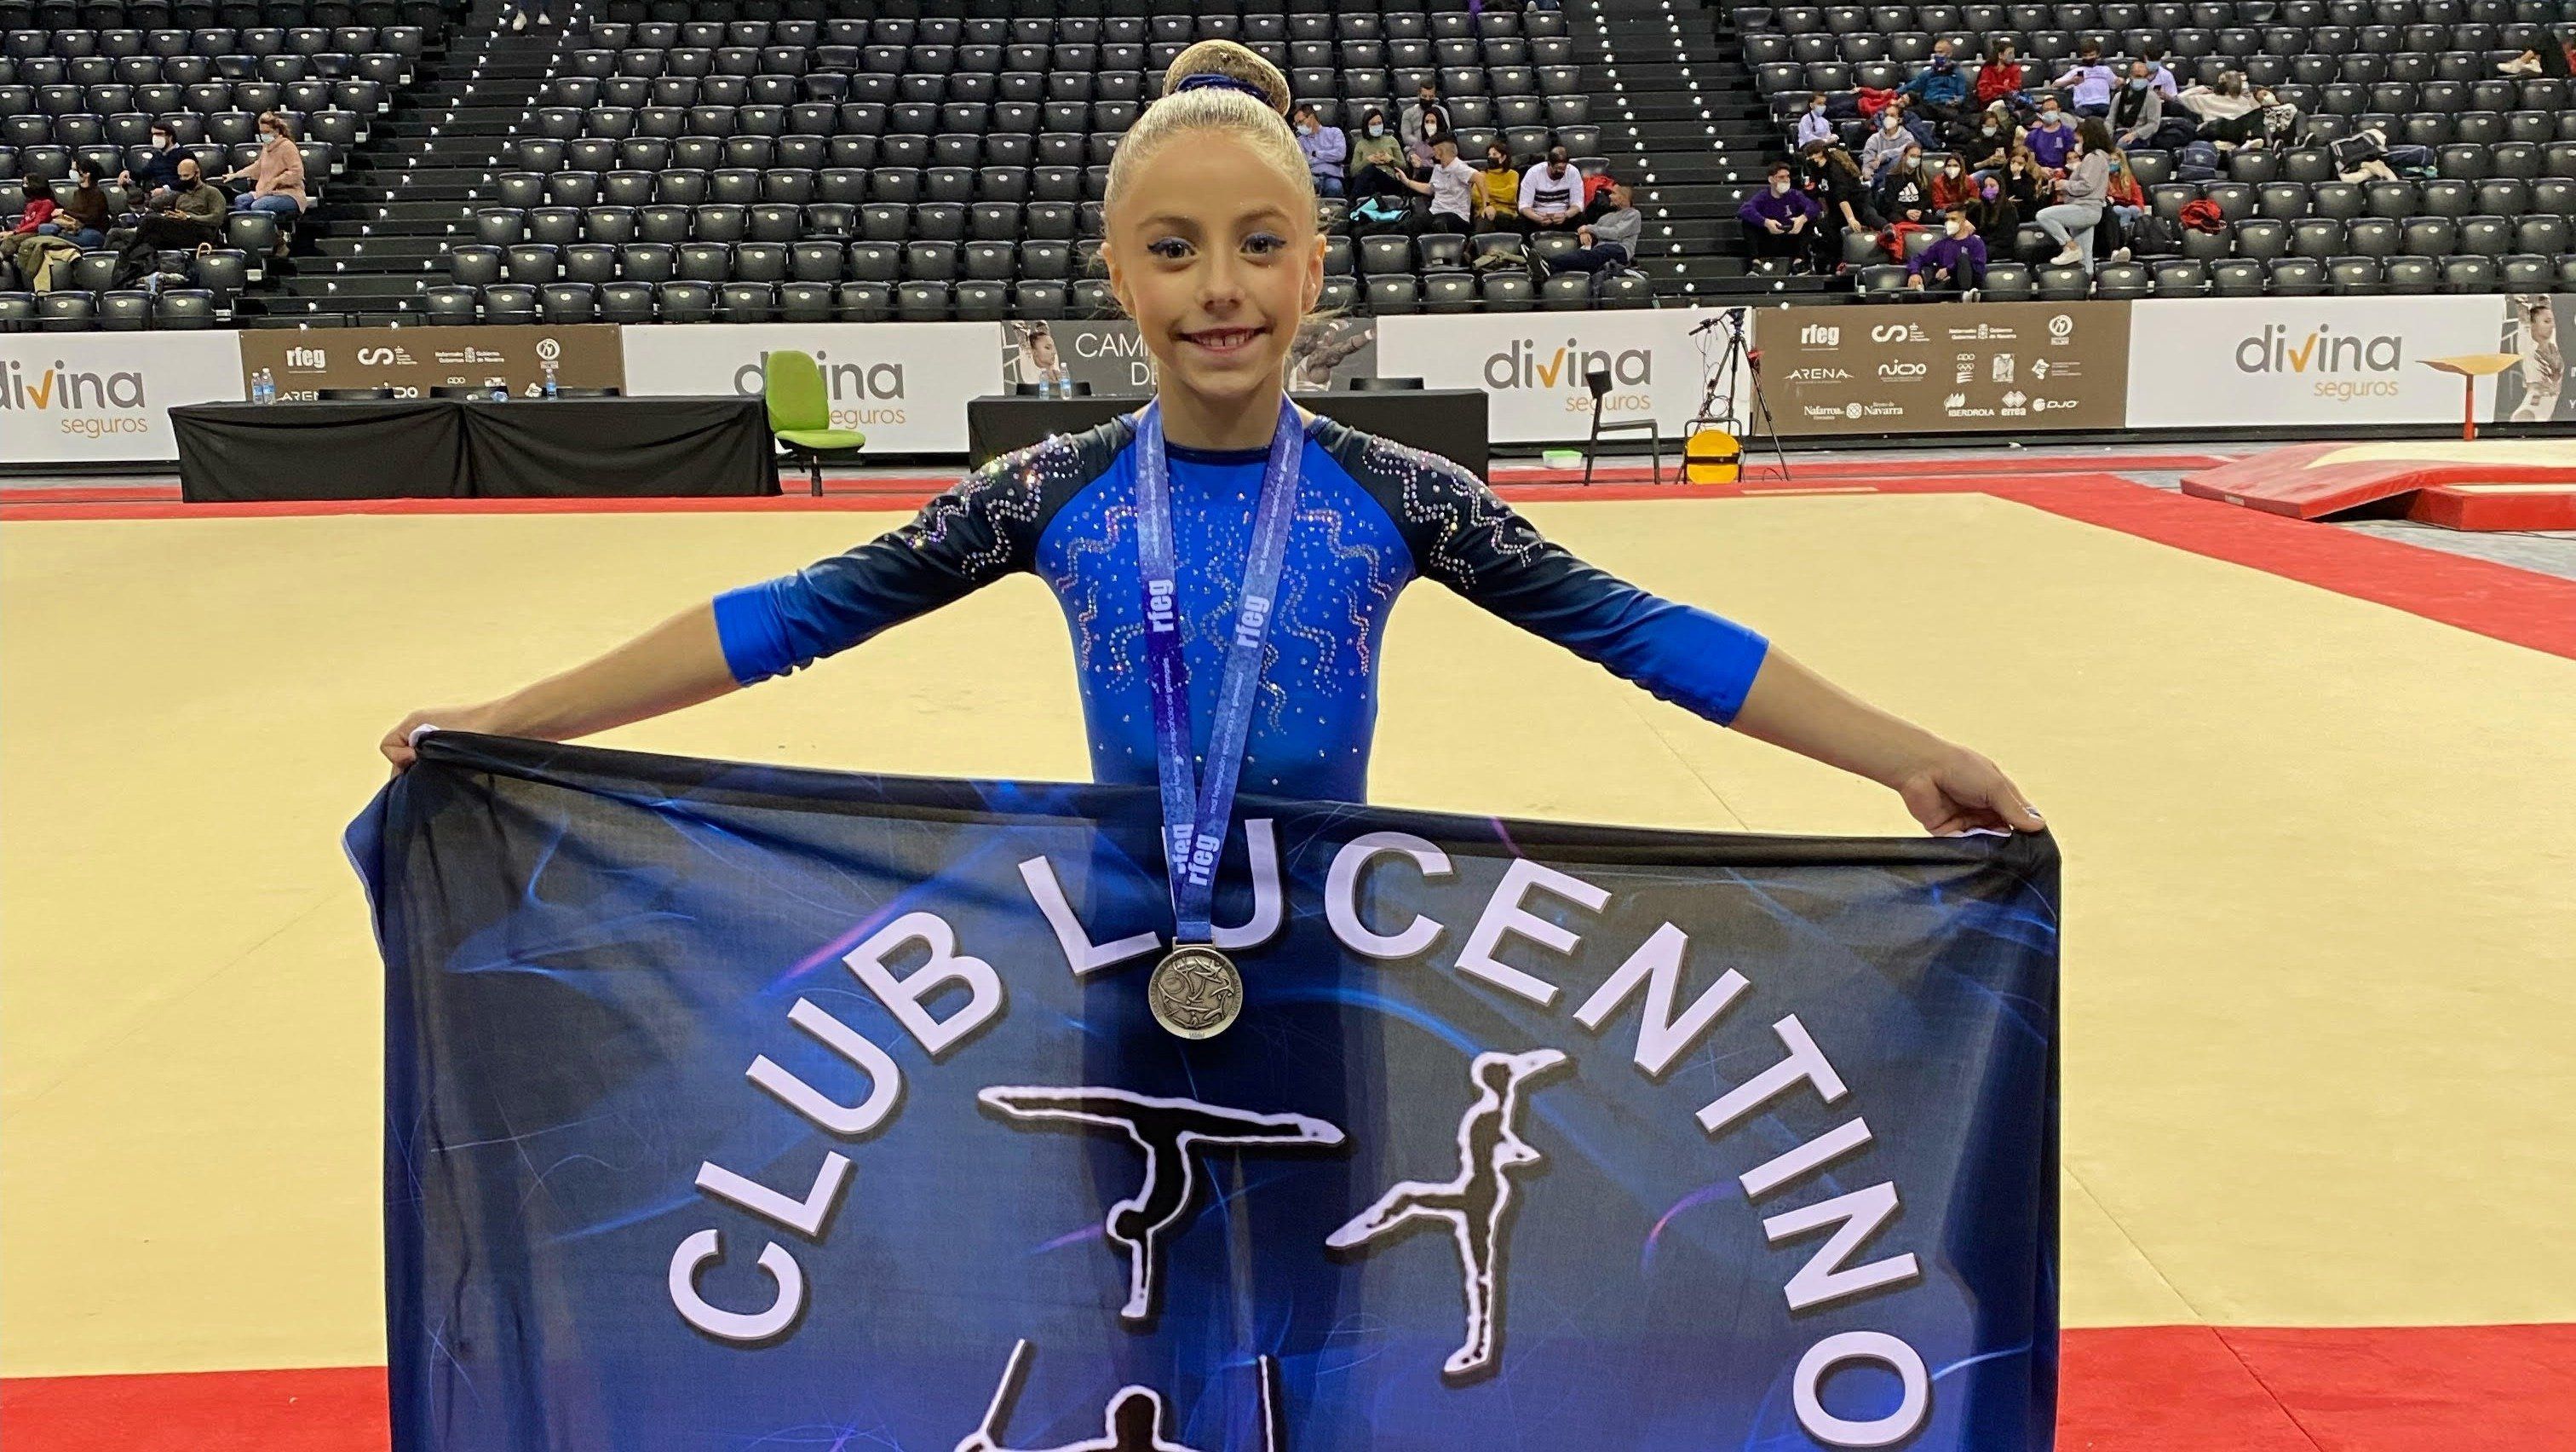
M 518 397 L 544 392 L 546 364 L 567 389 L 623 389 L 618 328 L 245 328 L 242 384 L 260 369 L 278 397 L 319 389 L 389 387 L 425 397 L 438 387 L 484 387 L 500 379 Z

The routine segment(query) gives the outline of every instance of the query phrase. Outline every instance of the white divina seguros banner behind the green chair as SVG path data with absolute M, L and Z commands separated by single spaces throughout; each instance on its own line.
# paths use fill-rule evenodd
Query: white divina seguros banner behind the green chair
M 966 400 L 1002 392 L 999 322 L 690 322 L 626 328 L 626 392 L 760 397 L 760 356 L 822 364 L 832 428 L 871 454 L 963 454 Z

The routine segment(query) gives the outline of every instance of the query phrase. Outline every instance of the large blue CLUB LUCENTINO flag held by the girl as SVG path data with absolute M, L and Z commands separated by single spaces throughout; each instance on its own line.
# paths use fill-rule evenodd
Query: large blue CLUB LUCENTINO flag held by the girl
M 2014 1452 L 2056 1411 L 2048 838 L 433 735 L 386 959 L 394 1447 Z

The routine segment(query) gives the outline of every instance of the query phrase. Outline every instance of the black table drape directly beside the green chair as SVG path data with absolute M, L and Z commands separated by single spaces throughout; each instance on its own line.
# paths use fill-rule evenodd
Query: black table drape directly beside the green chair
M 482 498 L 775 495 L 778 444 L 755 397 L 464 402 Z

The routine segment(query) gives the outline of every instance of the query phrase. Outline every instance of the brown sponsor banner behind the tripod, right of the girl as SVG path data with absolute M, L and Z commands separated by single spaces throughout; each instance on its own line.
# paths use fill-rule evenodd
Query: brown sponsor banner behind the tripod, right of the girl
M 2128 304 L 1945 302 L 1754 315 L 1780 433 L 2120 428 Z

